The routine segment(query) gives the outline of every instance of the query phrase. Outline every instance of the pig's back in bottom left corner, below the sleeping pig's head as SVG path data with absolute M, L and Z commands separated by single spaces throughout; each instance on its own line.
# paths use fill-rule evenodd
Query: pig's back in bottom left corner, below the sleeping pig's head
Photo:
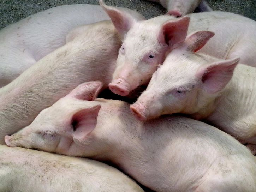
M 104 163 L 0 145 L 1 192 L 143 192 Z

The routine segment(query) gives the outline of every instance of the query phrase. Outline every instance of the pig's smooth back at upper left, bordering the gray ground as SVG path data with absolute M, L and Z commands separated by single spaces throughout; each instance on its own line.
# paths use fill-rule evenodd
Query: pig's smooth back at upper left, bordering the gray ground
M 131 13 L 137 20 L 144 17 Z M 33 14 L 0 31 L 0 88 L 65 44 L 69 31 L 80 25 L 109 20 L 99 5 L 63 5 Z

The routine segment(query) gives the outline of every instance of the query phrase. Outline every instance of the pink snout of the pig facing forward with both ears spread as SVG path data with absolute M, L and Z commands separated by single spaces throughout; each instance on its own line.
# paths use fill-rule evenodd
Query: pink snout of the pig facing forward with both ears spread
M 112 83 L 109 83 L 109 89 L 118 95 L 126 96 L 131 91 L 129 83 L 127 83 L 123 78 L 119 78 Z

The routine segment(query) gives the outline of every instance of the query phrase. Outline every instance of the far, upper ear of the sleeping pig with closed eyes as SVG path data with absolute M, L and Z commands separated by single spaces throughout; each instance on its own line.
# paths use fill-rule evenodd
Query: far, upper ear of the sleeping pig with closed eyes
M 99 81 L 86 82 L 78 85 L 66 97 L 77 98 L 81 100 L 93 101 L 99 94 L 103 83 Z

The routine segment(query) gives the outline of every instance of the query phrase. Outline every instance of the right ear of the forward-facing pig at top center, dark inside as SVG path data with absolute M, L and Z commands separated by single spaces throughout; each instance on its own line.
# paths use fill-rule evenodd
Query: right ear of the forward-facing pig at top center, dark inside
M 172 47 L 174 44 L 184 42 L 189 28 L 189 20 L 189 17 L 185 16 L 163 23 L 157 37 L 159 43 Z

